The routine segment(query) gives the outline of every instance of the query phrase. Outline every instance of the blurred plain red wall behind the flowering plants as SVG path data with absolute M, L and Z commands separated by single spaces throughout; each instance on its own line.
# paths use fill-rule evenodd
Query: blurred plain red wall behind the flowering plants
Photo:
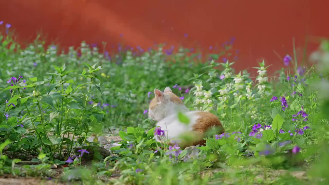
M 313 36 L 329 37 L 327 0 L 3 0 L 0 7 L 0 21 L 12 24 L 21 44 L 42 32 L 47 43 L 62 47 L 85 40 L 98 46 L 106 41 L 107 50 L 119 42 L 147 49 L 165 42 L 215 53 L 235 37 L 237 70 L 265 59 L 273 72 L 283 66 L 274 50 L 292 55 L 292 38 L 301 59 L 306 39 L 310 52 L 318 45 Z

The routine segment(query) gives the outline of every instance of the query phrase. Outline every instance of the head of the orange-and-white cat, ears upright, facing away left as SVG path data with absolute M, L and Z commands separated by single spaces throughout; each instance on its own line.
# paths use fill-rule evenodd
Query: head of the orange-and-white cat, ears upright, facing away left
M 176 94 L 172 93 L 170 87 L 166 87 L 164 92 L 154 89 L 154 95 L 148 109 L 148 117 L 150 119 L 159 121 L 174 114 L 179 108 L 183 111 L 188 110 L 183 101 Z

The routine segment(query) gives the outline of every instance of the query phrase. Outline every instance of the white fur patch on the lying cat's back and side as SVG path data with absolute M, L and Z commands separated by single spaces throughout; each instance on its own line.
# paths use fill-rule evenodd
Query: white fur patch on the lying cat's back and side
M 161 130 L 164 130 L 165 140 L 170 140 L 177 138 L 182 133 L 187 131 L 192 131 L 193 125 L 196 123 L 196 120 L 200 117 L 196 113 L 200 111 L 190 111 L 185 112 L 184 114 L 190 119 L 189 124 L 184 124 L 178 120 L 177 113 L 165 117 L 157 122 L 157 126 L 161 127 Z M 161 138 L 155 136 L 155 139 L 160 142 Z

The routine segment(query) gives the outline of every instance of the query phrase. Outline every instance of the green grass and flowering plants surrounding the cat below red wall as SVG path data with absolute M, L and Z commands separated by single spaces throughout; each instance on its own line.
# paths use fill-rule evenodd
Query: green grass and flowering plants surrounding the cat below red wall
M 294 59 L 269 78 L 263 61 L 256 80 L 218 62 L 233 45 L 202 63 L 161 45 L 111 54 L 82 42 L 63 53 L 0 41 L 3 183 L 328 184 L 328 41 L 315 65 Z M 217 115 L 226 134 L 184 150 L 153 140 L 148 103 L 166 86 Z

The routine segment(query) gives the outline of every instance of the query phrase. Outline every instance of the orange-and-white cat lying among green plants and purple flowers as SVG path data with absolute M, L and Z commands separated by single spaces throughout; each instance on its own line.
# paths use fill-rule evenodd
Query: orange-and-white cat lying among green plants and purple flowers
M 225 132 L 219 119 L 212 113 L 203 111 L 189 111 L 183 101 L 174 93 L 170 87 L 166 87 L 164 92 L 154 89 L 154 98 L 151 100 L 148 109 L 150 120 L 158 121 L 156 126 L 164 130 L 164 137 L 155 135 L 154 139 L 159 142 L 169 140 L 169 145 L 178 145 L 185 148 L 192 145 L 205 145 L 204 137 L 211 128 L 217 128 L 216 133 Z M 189 123 L 184 124 L 178 119 L 178 112 L 189 118 Z M 177 143 L 177 139 L 182 135 L 189 136 Z

